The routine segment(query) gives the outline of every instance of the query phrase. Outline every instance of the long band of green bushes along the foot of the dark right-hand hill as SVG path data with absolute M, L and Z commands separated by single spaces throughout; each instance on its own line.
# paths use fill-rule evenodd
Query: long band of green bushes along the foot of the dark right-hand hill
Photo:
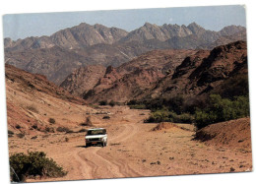
M 195 123 L 196 127 L 201 129 L 209 124 L 250 115 L 247 95 L 229 97 L 210 94 L 204 103 L 201 101 L 203 99 L 184 100 L 181 95 L 169 99 L 156 98 L 145 101 L 147 108 L 152 110 L 145 122 Z

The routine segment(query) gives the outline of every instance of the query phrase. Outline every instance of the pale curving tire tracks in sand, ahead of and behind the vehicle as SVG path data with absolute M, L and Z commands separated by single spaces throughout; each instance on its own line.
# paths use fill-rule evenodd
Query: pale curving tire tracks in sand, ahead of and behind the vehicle
M 109 142 L 118 141 L 118 143 L 122 143 L 138 133 L 136 124 L 129 123 L 121 126 L 124 126 L 125 129 L 114 138 L 110 138 Z M 79 163 L 78 169 L 84 179 L 136 177 L 141 175 L 128 164 L 125 164 L 124 159 L 113 158 L 101 151 L 102 148 L 91 147 L 73 154 Z

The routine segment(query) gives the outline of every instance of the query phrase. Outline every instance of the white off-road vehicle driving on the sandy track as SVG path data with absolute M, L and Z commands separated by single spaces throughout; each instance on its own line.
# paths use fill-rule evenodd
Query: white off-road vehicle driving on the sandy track
M 105 147 L 107 144 L 107 134 L 104 128 L 89 129 L 86 135 L 86 147 L 100 144 Z

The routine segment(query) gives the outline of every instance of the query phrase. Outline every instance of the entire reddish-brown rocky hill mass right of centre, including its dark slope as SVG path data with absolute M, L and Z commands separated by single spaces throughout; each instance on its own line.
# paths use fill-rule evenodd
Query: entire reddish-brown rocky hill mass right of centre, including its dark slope
M 96 102 L 150 99 L 214 92 L 231 78 L 247 75 L 246 42 L 236 41 L 209 50 L 164 50 L 146 53 L 109 69 L 84 97 Z M 226 89 L 226 87 L 224 87 Z

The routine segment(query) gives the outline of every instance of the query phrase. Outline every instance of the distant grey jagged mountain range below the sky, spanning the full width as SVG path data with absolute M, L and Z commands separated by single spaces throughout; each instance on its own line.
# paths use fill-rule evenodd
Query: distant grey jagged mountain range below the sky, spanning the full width
M 246 40 L 245 28 L 229 26 L 222 31 L 207 31 L 196 23 L 188 26 L 146 23 L 128 32 L 82 23 L 50 36 L 15 41 L 5 38 L 5 63 L 44 75 L 60 85 L 81 67 L 119 67 L 156 49 L 213 49 L 236 40 Z

